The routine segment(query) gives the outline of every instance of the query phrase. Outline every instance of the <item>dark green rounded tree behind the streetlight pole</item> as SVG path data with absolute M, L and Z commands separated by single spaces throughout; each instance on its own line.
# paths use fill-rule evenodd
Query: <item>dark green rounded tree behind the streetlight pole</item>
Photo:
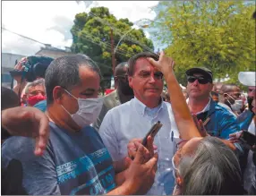
M 113 30 L 115 46 L 125 32 L 125 36 L 115 53 L 116 64 L 127 61 L 132 55 L 145 50 L 153 50 L 153 43 L 145 37 L 142 30 L 132 30 L 133 23 L 128 19 L 117 20 L 109 13 L 106 7 L 91 8 L 90 13 L 78 13 L 75 15 L 73 28 L 73 53 L 89 55 L 107 79 L 113 75 L 111 62 L 111 38 Z M 135 40 L 135 43 L 134 41 Z M 139 44 L 138 44 L 139 43 Z

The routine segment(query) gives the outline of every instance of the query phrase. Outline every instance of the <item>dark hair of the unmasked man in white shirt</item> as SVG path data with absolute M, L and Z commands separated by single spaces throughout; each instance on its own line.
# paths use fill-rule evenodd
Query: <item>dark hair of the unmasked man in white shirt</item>
M 150 52 L 142 52 L 142 53 L 139 53 L 137 55 L 133 55 L 128 61 L 128 66 L 129 66 L 128 75 L 129 76 L 133 75 L 134 66 L 135 66 L 135 64 L 136 64 L 136 62 L 139 58 L 153 58 L 154 60 L 158 61 L 159 56 L 154 54 L 154 53 L 150 53 Z

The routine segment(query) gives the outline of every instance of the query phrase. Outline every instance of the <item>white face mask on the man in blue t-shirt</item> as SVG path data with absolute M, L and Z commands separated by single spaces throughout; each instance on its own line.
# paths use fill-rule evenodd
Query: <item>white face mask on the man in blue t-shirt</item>
M 64 89 L 68 94 L 75 98 L 69 91 Z M 70 114 L 64 106 L 64 110 L 71 115 L 73 121 L 79 126 L 84 127 L 94 123 L 101 111 L 103 98 L 75 98 L 78 102 L 78 111 L 75 114 Z

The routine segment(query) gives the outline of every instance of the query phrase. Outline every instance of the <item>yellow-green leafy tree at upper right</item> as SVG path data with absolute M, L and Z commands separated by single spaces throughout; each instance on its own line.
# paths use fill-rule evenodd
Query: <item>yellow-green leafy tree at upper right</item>
M 153 37 L 167 44 L 167 55 L 175 59 L 175 72 L 185 84 L 184 72 L 205 66 L 216 79 L 238 82 L 241 71 L 255 71 L 254 2 L 170 1 L 155 8 Z

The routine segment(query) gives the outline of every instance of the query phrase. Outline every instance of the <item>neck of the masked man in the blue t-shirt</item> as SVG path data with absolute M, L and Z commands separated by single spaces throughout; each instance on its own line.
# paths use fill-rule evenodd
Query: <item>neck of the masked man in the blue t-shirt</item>
M 72 119 L 70 119 L 70 121 L 68 121 L 69 118 L 71 118 L 71 116 L 69 116 L 68 114 L 66 114 L 65 111 L 63 111 L 63 108 L 60 108 L 60 106 L 54 107 L 54 106 L 50 106 L 47 107 L 47 116 L 49 117 L 49 120 L 53 123 L 55 123 L 56 125 L 64 128 L 65 130 L 68 130 L 70 132 L 77 132 L 79 130 L 81 130 L 81 127 L 78 126 L 75 123 L 68 123 L 71 122 Z

